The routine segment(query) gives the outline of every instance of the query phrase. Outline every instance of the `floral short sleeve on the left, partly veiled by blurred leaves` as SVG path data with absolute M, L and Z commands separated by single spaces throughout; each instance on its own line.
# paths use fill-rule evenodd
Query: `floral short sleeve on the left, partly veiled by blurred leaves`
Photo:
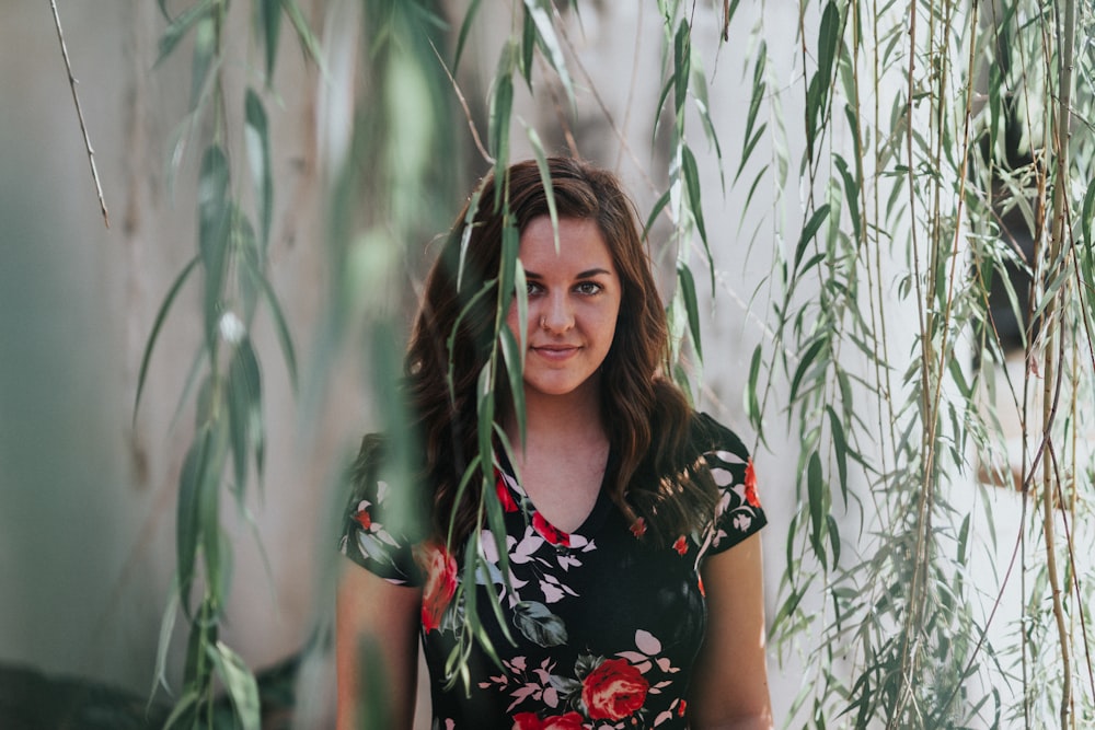
M 410 534 L 408 515 L 399 513 L 397 502 L 406 500 L 395 499 L 396 485 L 383 478 L 384 452 L 382 437 L 365 437 L 350 471 L 351 490 L 343 515 L 339 549 L 392 583 L 422 586 L 422 571 L 415 563 L 419 541 Z

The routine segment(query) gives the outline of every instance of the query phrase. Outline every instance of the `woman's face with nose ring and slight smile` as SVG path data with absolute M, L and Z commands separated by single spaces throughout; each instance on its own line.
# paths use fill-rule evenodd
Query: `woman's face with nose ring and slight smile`
M 529 318 L 506 323 L 515 335 L 526 327 L 525 391 L 538 395 L 593 397 L 597 369 L 612 346 L 622 296 L 620 277 L 597 222 L 558 221 L 558 251 L 548 216 L 533 218 L 521 233 L 521 264 L 528 279 Z

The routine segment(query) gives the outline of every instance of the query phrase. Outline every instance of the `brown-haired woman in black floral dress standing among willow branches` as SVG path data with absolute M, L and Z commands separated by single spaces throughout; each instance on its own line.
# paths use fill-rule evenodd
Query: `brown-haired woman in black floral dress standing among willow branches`
M 443 243 L 406 356 L 420 470 L 390 485 L 395 444 L 379 438 L 356 465 L 342 546 L 367 570 L 347 564 L 339 584 L 339 727 L 360 727 L 362 687 L 379 686 L 385 727 L 411 727 L 420 638 L 435 728 L 770 728 L 752 464 L 662 375 L 666 316 L 615 177 L 562 158 L 549 170 L 557 239 L 535 163 L 507 172 L 528 294 L 526 321 L 516 301 L 506 318 L 526 346 L 525 439 L 515 394 L 496 387 L 514 463 L 496 439 L 488 479 L 508 563 L 477 528 L 484 480 L 457 501 L 479 453 L 476 383 L 495 333 L 504 233 L 502 184 L 488 176 Z M 396 499 L 428 507 L 396 529 L 385 522 Z M 475 642 L 447 686 L 469 541 L 487 564 L 473 595 L 500 665 Z

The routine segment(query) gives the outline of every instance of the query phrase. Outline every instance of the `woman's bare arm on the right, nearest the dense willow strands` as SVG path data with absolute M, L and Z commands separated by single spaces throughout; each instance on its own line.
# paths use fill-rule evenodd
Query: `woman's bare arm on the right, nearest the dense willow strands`
M 690 727 L 768 730 L 773 725 L 760 535 L 712 556 L 701 575 L 707 596 L 707 634 L 693 672 Z

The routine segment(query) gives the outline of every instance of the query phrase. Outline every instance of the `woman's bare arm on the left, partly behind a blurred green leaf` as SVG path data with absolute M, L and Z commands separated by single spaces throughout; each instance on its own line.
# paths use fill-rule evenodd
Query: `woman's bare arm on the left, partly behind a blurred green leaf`
M 410 730 L 418 672 L 422 590 L 346 560 L 338 581 L 338 730 Z

